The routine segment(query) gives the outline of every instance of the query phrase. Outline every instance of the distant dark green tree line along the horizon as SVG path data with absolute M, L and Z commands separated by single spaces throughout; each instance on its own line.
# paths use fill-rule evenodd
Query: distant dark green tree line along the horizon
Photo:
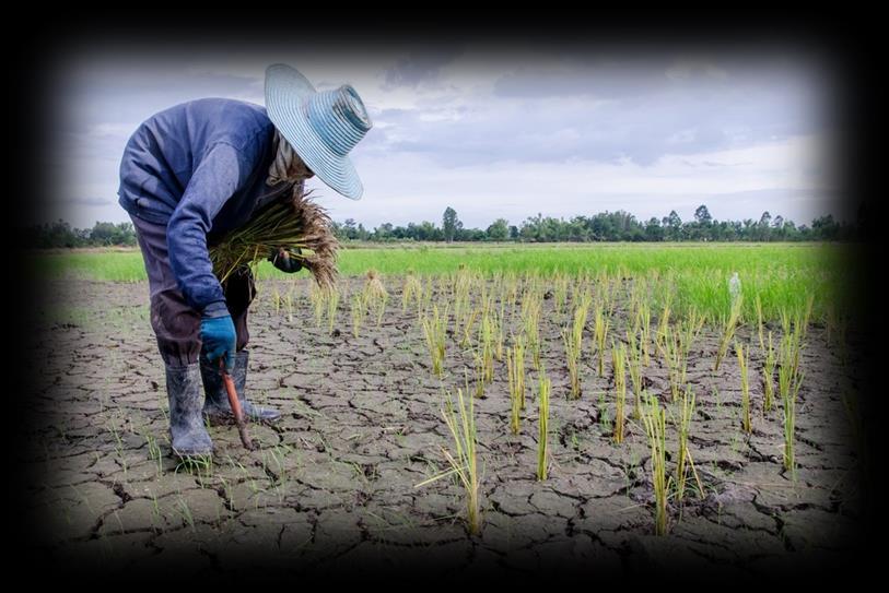
M 716 221 L 705 205 L 699 206 L 691 221 L 682 221 L 671 211 L 663 218 L 640 221 L 619 210 L 569 220 L 538 214 L 518 225 L 498 218 L 487 228 L 466 228 L 453 207 L 442 215 L 441 225 L 423 221 L 397 226 L 384 223 L 373 229 L 347 218 L 334 223 L 334 233 L 343 241 L 516 241 L 516 242 L 592 242 L 592 241 L 837 241 L 861 238 L 862 223 L 840 222 L 827 214 L 810 225 L 797 226 L 781 215 L 763 212 L 758 220 Z M 136 230 L 131 223 L 96 223 L 92 228 L 73 228 L 67 222 L 44 223 L 28 227 L 24 242 L 31 248 L 132 247 Z

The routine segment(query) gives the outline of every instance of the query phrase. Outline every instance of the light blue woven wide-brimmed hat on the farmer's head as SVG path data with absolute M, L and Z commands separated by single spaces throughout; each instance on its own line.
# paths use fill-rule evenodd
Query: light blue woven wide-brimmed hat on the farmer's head
M 344 84 L 318 92 L 296 69 L 266 69 L 266 111 L 278 131 L 318 179 L 351 200 L 364 186 L 349 158 L 373 126 L 361 97 Z

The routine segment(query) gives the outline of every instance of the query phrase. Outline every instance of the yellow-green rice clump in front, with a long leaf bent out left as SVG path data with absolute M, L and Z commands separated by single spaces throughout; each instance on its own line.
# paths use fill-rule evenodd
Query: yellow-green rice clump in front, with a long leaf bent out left
M 435 475 L 416 487 L 432 484 L 443 477 L 456 475 L 466 495 L 466 523 L 470 535 L 481 531 L 481 507 L 479 505 L 479 470 L 476 453 L 476 417 L 472 398 L 464 398 L 463 390 L 457 389 L 457 407 L 448 393 L 442 406 L 447 429 L 454 439 L 454 452 L 444 447 L 442 453 L 447 461 L 448 471 Z

